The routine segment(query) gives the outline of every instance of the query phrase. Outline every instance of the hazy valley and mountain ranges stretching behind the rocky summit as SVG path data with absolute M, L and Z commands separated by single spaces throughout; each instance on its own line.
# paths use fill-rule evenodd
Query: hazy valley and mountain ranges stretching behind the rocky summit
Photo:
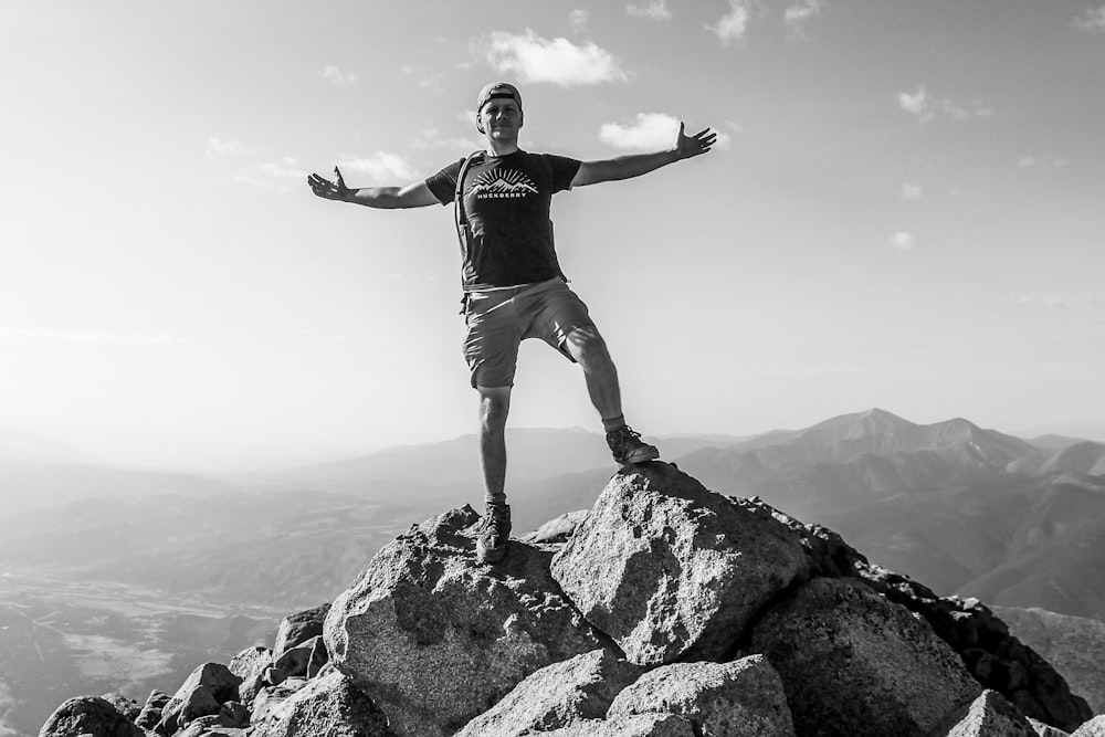
M 940 594 L 1017 608 L 1002 610 L 1014 633 L 1033 627 L 1056 650 L 1101 642 L 1105 445 L 880 410 L 660 444 L 707 487 L 835 529 Z M 509 448 L 516 534 L 589 507 L 614 470 L 601 436 L 580 430 L 514 430 Z M 52 450 L 0 453 L 12 499 L 0 514 L 0 737 L 34 734 L 71 695 L 172 689 L 333 599 L 410 524 L 482 498 L 472 436 L 221 478 Z M 1062 617 L 1013 615 L 1031 608 Z

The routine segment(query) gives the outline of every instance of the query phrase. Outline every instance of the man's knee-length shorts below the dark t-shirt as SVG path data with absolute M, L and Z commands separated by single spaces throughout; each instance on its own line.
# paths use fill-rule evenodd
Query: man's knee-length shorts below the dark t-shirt
M 470 292 L 464 299 L 464 360 L 472 387 L 513 387 L 518 346 L 540 338 L 575 362 L 568 335 L 594 327 L 587 305 L 561 278 L 490 292 Z

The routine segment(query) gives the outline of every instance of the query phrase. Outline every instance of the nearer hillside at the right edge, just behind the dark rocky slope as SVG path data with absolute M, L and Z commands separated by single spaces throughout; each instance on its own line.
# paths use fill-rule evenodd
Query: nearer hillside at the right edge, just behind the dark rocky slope
M 996 607 L 1009 631 L 1063 674 L 1071 692 L 1105 714 L 1105 622 L 1043 609 Z

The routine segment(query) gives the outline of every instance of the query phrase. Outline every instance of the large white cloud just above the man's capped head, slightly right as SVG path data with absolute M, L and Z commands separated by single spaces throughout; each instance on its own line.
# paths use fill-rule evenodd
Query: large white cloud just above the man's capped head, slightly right
M 613 54 L 593 43 L 546 40 L 530 29 L 520 35 L 493 32 L 478 48 L 493 70 L 516 74 L 523 82 L 550 82 L 561 87 L 628 78 Z

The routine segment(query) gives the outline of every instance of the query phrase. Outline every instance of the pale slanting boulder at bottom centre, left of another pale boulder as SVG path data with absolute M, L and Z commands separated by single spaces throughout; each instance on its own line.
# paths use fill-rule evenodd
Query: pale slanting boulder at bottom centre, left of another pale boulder
M 601 719 L 618 692 L 641 673 L 640 666 L 607 650 L 592 650 L 546 665 L 470 722 L 456 737 L 509 737 Z

